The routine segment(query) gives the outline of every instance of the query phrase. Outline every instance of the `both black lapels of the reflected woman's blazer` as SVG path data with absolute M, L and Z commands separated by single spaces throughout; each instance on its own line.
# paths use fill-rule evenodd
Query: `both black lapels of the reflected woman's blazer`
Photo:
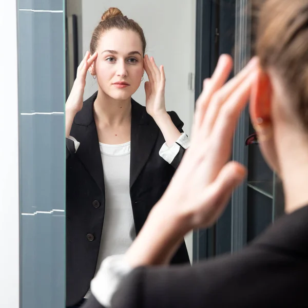
M 93 103 L 97 98 L 97 93 L 95 92 L 92 97 L 86 100 L 83 109 L 76 114 L 72 136 L 80 142 L 76 156 L 80 158 L 100 189 L 104 191 L 103 164 L 98 132 L 93 117 Z M 130 188 L 148 161 L 158 132 L 158 126 L 147 114 L 145 108 L 131 99 Z

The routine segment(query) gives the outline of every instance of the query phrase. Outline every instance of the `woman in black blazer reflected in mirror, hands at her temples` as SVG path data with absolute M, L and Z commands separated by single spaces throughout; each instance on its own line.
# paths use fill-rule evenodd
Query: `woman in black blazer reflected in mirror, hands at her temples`
M 97 264 L 127 251 L 188 146 L 183 122 L 166 112 L 164 69 L 145 48 L 140 26 L 107 10 L 66 103 L 67 306 L 87 297 Z M 83 102 L 88 70 L 98 91 Z M 146 107 L 131 98 L 144 70 Z M 172 263 L 184 262 L 182 239 Z

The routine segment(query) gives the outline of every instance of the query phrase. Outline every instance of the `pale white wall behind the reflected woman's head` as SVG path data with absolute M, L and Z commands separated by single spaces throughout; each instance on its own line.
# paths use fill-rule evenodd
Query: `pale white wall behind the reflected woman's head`
M 188 74 L 195 73 L 196 0 L 82 0 L 83 54 L 89 50 L 91 35 L 109 7 L 118 7 L 124 15 L 138 22 L 147 40 L 146 53 L 166 74 L 166 108 L 178 113 L 184 131 L 190 134 L 194 113 L 194 89 L 188 89 Z M 144 82 L 133 99 L 145 105 Z M 97 90 L 97 82 L 87 75 L 84 98 Z M 192 236 L 186 238 L 192 255 Z

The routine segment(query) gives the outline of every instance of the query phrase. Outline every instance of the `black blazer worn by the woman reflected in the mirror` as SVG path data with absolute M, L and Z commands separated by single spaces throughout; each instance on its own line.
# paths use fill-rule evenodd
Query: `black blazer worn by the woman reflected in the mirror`
M 105 187 L 98 133 L 93 118 L 97 92 L 84 102 L 66 140 L 66 304 L 78 303 L 87 293 L 98 261 L 104 222 Z M 183 122 L 169 115 L 182 132 Z M 165 142 L 145 107 L 131 100 L 130 198 L 138 234 L 151 208 L 161 198 L 184 153 L 181 148 L 172 164 L 159 156 Z M 155 236 L 155 234 L 153 234 Z M 189 262 L 185 243 L 172 263 Z

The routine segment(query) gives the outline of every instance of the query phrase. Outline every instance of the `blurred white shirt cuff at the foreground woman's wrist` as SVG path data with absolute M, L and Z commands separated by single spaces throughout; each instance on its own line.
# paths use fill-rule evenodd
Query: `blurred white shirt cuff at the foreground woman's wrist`
M 91 293 L 106 308 L 122 279 L 132 271 L 124 255 L 107 257 L 101 264 L 97 275 L 91 281 Z

